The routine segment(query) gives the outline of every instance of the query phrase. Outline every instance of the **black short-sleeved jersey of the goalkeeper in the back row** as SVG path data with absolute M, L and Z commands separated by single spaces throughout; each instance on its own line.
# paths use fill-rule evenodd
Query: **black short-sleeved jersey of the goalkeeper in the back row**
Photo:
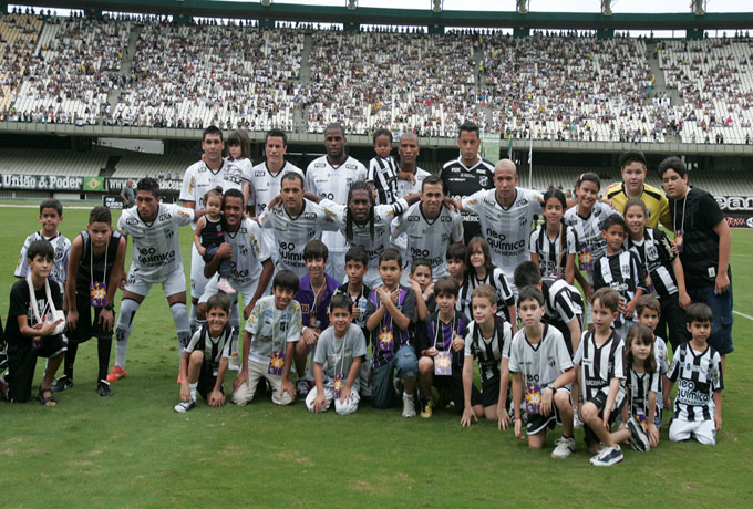
M 467 167 L 458 157 L 444 164 L 440 177 L 445 195 L 463 199 L 482 189 L 494 188 L 494 164 L 479 157 L 474 166 Z M 468 243 L 472 238 L 482 235 L 483 225 L 478 225 L 477 216 L 464 212 L 463 229 L 465 243 Z

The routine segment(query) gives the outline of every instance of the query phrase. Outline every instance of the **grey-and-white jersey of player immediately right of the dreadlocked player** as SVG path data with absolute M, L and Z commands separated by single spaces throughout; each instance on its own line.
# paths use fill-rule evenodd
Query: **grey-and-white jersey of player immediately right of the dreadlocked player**
M 406 253 L 410 260 L 427 258 L 432 263 L 434 281 L 447 276 L 447 247 L 463 240 L 463 218 L 460 214 L 442 207 L 434 219 L 426 219 L 421 201 L 413 204 L 393 222 L 393 237 L 406 236 Z

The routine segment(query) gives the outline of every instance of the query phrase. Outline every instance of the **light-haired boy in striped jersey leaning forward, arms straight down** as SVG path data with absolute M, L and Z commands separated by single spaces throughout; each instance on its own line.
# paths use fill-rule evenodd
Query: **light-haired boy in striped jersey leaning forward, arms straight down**
M 499 429 L 509 425 L 508 385 L 509 346 L 513 328 L 497 313 L 497 292 L 489 284 L 479 284 L 472 297 L 473 322 L 465 335 L 463 361 L 464 407 L 461 426 L 486 417 L 496 420 Z M 473 361 L 478 360 L 481 392 L 473 384 Z

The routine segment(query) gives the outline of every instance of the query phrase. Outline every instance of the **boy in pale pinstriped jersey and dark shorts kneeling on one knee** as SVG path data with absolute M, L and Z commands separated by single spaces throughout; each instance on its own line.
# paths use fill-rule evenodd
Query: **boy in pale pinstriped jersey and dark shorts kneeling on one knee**
M 551 453 L 553 458 L 567 458 L 575 453 L 570 384 L 575 367 L 563 333 L 541 322 L 544 295 L 538 288 L 520 289 L 518 315 L 525 325 L 513 337 L 509 372 L 513 373 L 515 436 L 523 439 L 520 403 L 525 393 L 528 447 L 540 449 L 547 433 L 563 425 L 563 437 Z

